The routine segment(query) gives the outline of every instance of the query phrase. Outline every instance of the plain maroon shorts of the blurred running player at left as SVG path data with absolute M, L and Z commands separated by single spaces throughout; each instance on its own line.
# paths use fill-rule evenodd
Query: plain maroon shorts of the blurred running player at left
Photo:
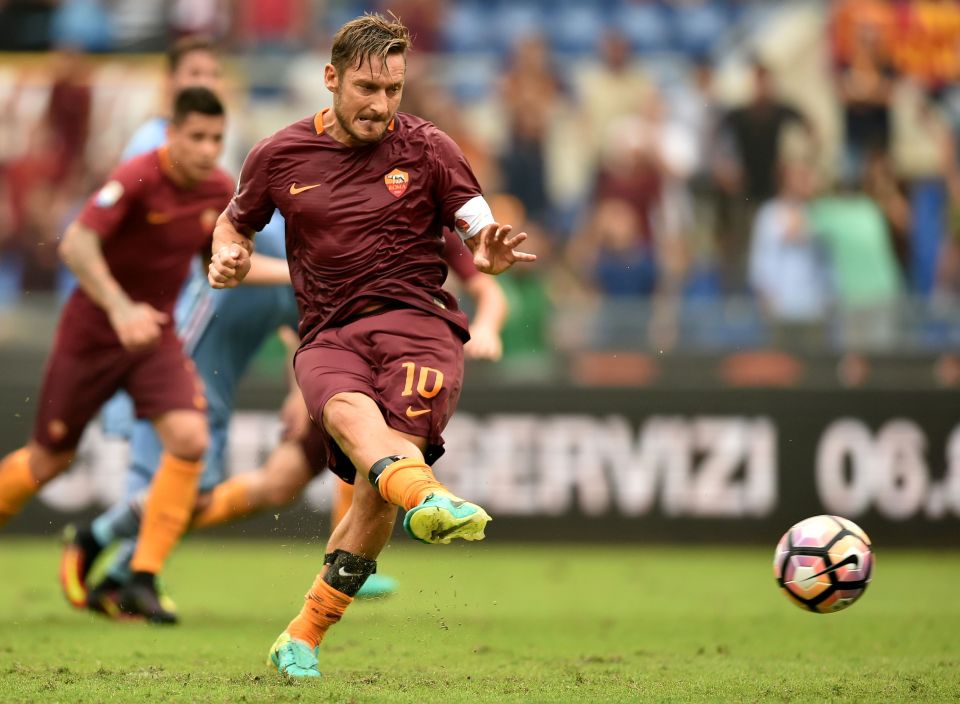
M 119 343 L 78 344 L 73 334 L 61 327 L 47 360 L 33 425 L 33 439 L 43 447 L 76 448 L 87 423 L 119 389 L 133 398 L 138 418 L 206 409 L 203 383 L 172 331 L 165 329 L 159 345 L 135 354 Z

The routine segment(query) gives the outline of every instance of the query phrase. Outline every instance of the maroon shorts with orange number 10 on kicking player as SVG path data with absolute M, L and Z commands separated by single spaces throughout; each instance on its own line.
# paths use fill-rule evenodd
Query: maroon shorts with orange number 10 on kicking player
M 293 365 L 330 469 L 345 481 L 356 470 L 322 429 L 323 409 L 338 393 L 369 396 L 388 426 L 426 438 L 428 462 L 443 454 L 443 429 L 463 383 L 463 341 L 443 318 L 414 308 L 377 312 L 324 330 Z

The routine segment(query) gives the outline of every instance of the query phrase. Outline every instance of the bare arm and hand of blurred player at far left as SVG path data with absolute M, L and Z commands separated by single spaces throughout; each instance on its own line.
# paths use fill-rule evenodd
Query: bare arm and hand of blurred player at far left
M 73 222 L 67 227 L 58 254 L 77 277 L 80 287 L 106 311 L 120 343 L 129 350 L 154 345 L 169 317 L 147 303 L 130 299 L 103 258 L 100 236 Z

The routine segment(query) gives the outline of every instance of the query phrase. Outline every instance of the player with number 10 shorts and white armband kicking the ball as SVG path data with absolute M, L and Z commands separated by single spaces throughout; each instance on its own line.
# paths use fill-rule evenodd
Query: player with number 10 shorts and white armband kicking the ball
M 253 148 L 214 231 L 210 283 L 233 287 L 250 270 L 254 233 L 275 209 L 286 218 L 301 311 L 294 371 L 331 469 L 361 479 L 302 610 L 270 649 L 293 677 L 320 675 L 319 643 L 376 570 L 398 506 L 427 543 L 480 540 L 490 520 L 430 469 L 468 338 L 442 289 L 441 228 L 456 229 L 485 273 L 536 257 L 516 251 L 524 233 L 493 220 L 457 145 L 397 112 L 409 44 L 406 27 L 381 15 L 341 27 L 324 68 L 333 108 Z

